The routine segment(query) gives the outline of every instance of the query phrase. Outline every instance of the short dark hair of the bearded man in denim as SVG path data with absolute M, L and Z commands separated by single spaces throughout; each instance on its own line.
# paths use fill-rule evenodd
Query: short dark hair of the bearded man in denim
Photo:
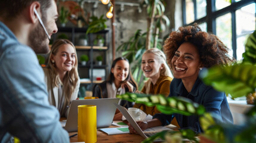
M 53 0 L 2 0 L 0 1 L 0 17 L 10 20 L 29 7 L 34 1 L 38 1 L 41 4 L 42 19 L 45 19 L 45 11 L 50 7 Z

